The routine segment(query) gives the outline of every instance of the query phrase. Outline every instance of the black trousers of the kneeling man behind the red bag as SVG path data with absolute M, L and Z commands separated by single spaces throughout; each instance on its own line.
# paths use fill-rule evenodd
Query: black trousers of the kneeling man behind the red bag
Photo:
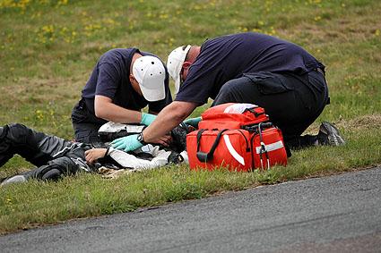
M 329 104 L 325 75 L 321 71 L 256 72 L 225 83 L 213 105 L 229 102 L 264 107 L 291 149 L 314 145 L 315 136 L 300 136 Z

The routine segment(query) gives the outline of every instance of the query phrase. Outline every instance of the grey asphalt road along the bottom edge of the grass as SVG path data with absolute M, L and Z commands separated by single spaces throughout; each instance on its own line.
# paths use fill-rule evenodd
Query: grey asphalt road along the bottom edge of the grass
M 1 252 L 381 252 L 381 168 L 0 237 Z

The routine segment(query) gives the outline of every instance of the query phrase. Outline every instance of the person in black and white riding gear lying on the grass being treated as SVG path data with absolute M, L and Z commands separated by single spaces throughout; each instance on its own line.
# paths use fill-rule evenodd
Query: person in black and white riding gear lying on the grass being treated
M 29 179 L 57 180 L 81 171 L 96 173 L 101 166 L 136 169 L 178 163 L 178 154 L 186 148 L 186 129 L 179 127 L 171 134 L 171 149 L 147 145 L 144 150 L 127 154 L 107 143 L 94 146 L 34 131 L 20 123 L 7 124 L 0 127 L 0 167 L 18 154 L 36 168 L 10 177 L 2 185 Z

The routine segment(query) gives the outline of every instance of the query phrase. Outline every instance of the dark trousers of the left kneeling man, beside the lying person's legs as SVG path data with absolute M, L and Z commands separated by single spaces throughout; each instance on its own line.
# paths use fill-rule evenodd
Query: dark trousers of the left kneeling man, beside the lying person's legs
M 76 141 L 95 145 L 100 144 L 101 139 L 98 131 L 100 126 L 106 122 L 90 112 L 84 98 L 73 108 L 72 123 Z

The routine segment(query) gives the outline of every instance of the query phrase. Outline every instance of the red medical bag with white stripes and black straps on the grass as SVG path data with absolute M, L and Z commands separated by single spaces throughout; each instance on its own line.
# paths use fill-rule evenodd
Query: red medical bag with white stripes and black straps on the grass
M 267 122 L 263 108 L 233 103 L 216 107 L 206 110 L 199 130 L 186 136 L 191 169 L 227 167 L 230 171 L 249 171 L 287 164 L 281 130 Z M 215 108 L 217 112 L 213 115 Z

